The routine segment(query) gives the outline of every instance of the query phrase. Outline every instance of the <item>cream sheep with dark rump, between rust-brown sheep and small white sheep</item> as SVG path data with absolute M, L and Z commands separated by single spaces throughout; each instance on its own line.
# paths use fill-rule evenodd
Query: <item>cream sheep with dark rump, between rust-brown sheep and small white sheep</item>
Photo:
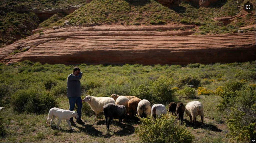
M 146 118 L 147 116 L 150 116 L 151 113 L 151 104 L 148 100 L 143 99 L 138 103 L 137 107 L 138 116 L 141 118 Z

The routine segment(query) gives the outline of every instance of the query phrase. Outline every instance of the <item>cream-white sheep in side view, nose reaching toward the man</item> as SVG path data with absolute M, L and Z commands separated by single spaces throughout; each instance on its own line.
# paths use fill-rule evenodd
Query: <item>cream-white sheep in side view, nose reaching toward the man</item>
M 94 118 L 97 119 L 97 115 L 100 112 L 103 112 L 103 106 L 108 104 L 108 103 L 113 103 L 115 104 L 115 100 L 110 97 L 94 97 L 94 96 L 86 96 L 83 99 L 83 102 L 87 102 L 92 110 L 96 113 L 96 116 Z

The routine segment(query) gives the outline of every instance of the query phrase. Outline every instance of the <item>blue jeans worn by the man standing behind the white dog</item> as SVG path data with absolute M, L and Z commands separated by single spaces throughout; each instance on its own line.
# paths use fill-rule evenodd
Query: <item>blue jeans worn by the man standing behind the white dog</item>
M 82 100 L 81 97 L 68 97 L 69 101 L 69 110 L 74 111 L 75 104 L 77 105 L 77 113 L 79 118 L 81 119 L 81 112 L 82 112 Z M 69 119 L 69 121 L 73 121 L 73 117 Z

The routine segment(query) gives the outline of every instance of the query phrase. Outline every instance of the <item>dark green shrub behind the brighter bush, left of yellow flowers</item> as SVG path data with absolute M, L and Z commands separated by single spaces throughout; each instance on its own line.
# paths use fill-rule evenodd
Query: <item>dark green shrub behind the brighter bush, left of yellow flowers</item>
M 182 77 L 178 81 L 178 87 L 181 88 L 185 85 L 194 85 L 195 88 L 198 88 L 201 85 L 201 81 L 196 76 L 187 75 Z

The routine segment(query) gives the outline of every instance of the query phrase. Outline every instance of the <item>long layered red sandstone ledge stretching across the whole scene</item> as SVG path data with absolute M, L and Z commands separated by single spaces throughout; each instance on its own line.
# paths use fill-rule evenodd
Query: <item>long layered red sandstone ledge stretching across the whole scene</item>
M 255 60 L 255 31 L 191 35 L 181 26 L 94 26 L 46 30 L 0 49 L 0 62 L 180 64 Z M 185 29 L 193 26 L 183 26 Z M 29 47 L 30 46 L 30 47 Z M 9 55 L 27 47 L 27 51 Z

